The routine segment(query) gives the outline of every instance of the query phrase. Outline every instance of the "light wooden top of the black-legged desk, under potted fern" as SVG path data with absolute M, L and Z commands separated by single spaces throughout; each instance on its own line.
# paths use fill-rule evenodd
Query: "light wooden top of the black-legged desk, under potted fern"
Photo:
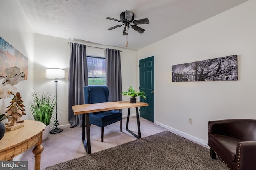
M 131 107 L 142 107 L 148 106 L 148 103 L 137 102 L 130 103 L 130 101 L 119 101 L 119 102 L 104 102 L 104 103 L 94 103 L 94 104 L 81 104 L 72 106 L 72 110 L 75 115 L 84 113 L 94 113 L 98 111 L 108 111 L 115 109 L 124 109 Z

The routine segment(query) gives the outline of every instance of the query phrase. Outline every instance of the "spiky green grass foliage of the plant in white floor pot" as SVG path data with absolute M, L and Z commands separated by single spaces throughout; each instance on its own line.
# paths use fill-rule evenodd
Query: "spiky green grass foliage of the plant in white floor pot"
M 40 121 L 46 126 L 52 121 L 52 114 L 56 106 L 56 101 L 49 93 L 39 94 L 38 92 L 30 92 L 32 100 L 29 102 L 30 109 L 35 121 Z

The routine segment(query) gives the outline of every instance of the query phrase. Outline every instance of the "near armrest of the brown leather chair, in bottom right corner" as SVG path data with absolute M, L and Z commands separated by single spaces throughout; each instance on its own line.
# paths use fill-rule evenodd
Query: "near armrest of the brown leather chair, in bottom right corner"
M 236 169 L 252 170 L 256 167 L 256 141 L 239 142 L 236 147 Z

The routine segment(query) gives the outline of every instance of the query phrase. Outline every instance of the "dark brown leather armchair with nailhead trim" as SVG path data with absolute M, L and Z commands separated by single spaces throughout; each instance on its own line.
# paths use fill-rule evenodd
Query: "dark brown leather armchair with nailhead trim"
M 230 170 L 256 169 L 256 120 L 209 121 L 210 156 L 216 155 Z

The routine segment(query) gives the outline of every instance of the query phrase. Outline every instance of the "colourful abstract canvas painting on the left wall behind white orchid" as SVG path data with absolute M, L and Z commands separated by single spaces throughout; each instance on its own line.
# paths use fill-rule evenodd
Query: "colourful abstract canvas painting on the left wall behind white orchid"
M 4 77 L 4 70 L 9 67 L 18 67 L 24 72 L 25 80 L 28 77 L 28 58 L 20 51 L 12 47 L 8 42 L 0 37 L 0 77 Z

